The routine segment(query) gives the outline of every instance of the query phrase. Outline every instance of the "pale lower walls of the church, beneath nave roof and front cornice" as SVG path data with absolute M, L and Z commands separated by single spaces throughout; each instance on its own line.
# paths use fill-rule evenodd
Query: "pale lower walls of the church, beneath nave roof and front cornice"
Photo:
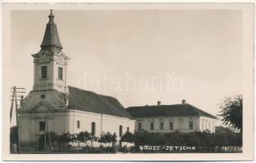
M 82 112 L 78 110 L 70 110 L 68 112 L 47 112 L 46 108 L 37 109 L 45 111 L 45 113 L 21 113 L 20 114 L 20 143 L 35 143 L 35 149 L 38 148 L 38 139 L 43 131 L 39 131 L 39 121 L 42 117 L 52 117 L 48 120 L 48 130 L 54 131 L 56 134 L 62 134 L 69 131 L 71 134 L 78 134 L 80 131 L 92 132 L 92 121 L 96 123 L 96 136 L 99 137 L 102 132 L 116 133 L 119 141 L 119 126 L 123 126 L 123 134 L 129 127 L 130 132 L 134 132 L 135 121 L 124 117 L 114 117 L 102 115 L 93 112 Z M 80 128 L 77 128 L 77 121 L 80 121 Z M 102 124 L 102 125 L 101 125 Z M 94 146 L 98 146 L 94 143 Z

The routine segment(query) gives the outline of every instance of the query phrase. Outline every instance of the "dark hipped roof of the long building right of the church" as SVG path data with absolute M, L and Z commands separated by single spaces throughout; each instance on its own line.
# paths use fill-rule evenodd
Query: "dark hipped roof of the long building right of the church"
M 208 112 L 195 108 L 191 104 L 137 106 L 127 108 L 135 118 L 144 117 L 210 117 L 217 119 Z

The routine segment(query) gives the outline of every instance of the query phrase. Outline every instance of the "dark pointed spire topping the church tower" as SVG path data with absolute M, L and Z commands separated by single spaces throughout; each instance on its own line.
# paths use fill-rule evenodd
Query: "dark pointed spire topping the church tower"
M 54 23 L 54 15 L 52 14 L 52 10 L 48 17 L 49 22 L 47 23 L 47 28 L 45 29 L 41 48 L 44 51 L 60 52 L 62 46 L 56 24 Z

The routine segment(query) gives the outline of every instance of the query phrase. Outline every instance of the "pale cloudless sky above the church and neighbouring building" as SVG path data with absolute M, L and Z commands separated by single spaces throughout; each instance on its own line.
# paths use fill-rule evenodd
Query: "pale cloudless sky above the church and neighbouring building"
M 242 92 L 242 12 L 237 10 L 53 11 L 70 59 L 67 83 L 119 99 L 124 107 L 194 105 L 216 116 Z M 11 11 L 5 86 L 32 90 L 32 54 L 49 11 Z M 9 74 L 9 73 L 8 73 Z

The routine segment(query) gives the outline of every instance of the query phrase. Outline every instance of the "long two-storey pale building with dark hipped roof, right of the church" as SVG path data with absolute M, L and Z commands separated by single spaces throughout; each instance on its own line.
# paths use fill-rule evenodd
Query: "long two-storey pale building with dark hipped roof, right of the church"
M 135 130 L 150 132 L 194 132 L 209 130 L 215 132 L 217 117 L 195 108 L 191 104 L 138 106 L 127 108 L 136 119 Z

